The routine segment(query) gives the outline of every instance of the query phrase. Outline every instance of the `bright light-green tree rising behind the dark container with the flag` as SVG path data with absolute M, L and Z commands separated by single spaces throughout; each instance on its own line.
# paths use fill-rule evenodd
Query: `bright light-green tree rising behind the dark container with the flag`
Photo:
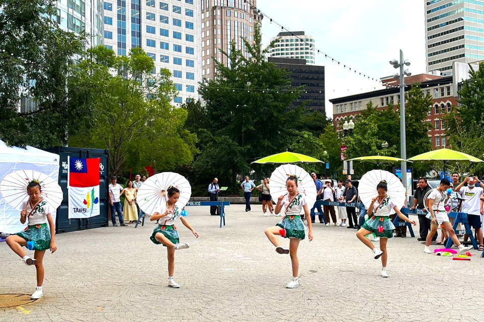
M 170 104 L 176 91 L 169 71 L 152 74 L 153 59 L 140 48 L 126 57 L 98 46 L 88 55 L 73 79 L 78 87 L 73 100 L 92 107 L 95 126 L 73 143 L 108 148 L 112 175 L 146 165 L 161 171 L 191 163 L 196 136 L 184 129 L 187 111 Z

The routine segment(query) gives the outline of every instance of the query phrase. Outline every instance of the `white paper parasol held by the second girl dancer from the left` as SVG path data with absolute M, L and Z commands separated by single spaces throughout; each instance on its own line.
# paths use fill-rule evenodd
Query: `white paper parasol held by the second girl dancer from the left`
M 136 194 L 138 206 L 143 212 L 150 215 L 153 214 L 155 207 L 168 200 L 166 191 L 170 186 L 180 191 L 180 197 L 176 202 L 176 206 L 181 211 L 190 200 L 192 187 L 185 177 L 173 172 L 159 173 L 146 179 Z

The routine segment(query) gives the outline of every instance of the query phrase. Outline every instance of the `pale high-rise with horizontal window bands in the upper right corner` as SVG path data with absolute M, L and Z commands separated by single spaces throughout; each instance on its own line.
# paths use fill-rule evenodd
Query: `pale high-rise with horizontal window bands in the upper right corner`
M 427 71 L 452 72 L 452 62 L 484 59 L 484 2 L 427 0 Z

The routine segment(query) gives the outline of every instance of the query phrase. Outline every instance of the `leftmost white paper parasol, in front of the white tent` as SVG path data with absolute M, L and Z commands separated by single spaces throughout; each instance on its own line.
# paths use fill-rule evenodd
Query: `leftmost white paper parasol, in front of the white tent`
M 57 181 L 34 170 L 19 170 L 6 175 L 0 182 L 2 198 L 15 209 L 22 210 L 22 203 L 29 200 L 27 186 L 32 180 L 39 181 L 41 196 L 57 208 L 63 200 L 63 192 Z

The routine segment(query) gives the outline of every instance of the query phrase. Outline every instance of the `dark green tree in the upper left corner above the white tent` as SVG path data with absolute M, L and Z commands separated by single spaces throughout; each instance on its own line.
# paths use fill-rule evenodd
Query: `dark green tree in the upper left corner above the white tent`
M 65 144 L 89 114 L 71 104 L 67 89 L 69 61 L 82 53 L 84 36 L 51 20 L 52 0 L 4 0 L 0 8 L 0 138 L 19 146 Z M 25 98 L 33 109 L 18 112 Z

